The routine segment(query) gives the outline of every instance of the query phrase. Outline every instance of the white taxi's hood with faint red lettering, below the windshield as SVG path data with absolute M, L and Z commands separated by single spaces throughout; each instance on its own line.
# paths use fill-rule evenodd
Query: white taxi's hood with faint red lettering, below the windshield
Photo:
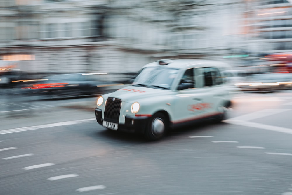
M 159 96 L 160 94 L 166 95 L 168 93 L 171 93 L 171 90 L 128 86 L 109 94 L 109 97 L 119 98 L 125 102 L 133 102 L 139 99 Z

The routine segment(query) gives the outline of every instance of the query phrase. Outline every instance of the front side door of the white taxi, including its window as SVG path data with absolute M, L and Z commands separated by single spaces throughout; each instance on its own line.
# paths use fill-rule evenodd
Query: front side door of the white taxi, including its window
M 174 124 L 190 122 L 192 120 L 204 117 L 204 109 L 208 109 L 206 99 L 208 93 L 196 87 L 195 68 L 185 71 L 180 83 L 188 83 L 187 89 L 179 89 L 176 91 L 175 97 L 175 117 Z

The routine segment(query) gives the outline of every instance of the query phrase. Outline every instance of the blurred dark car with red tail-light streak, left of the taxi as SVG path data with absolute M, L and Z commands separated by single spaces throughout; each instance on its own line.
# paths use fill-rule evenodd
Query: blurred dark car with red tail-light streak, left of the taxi
M 44 95 L 50 99 L 102 94 L 121 87 L 121 83 L 102 81 L 95 73 L 60 74 L 44 77 L 22 86 L 25 93 Z M 33 80 L 32 80 L 33 82 Z

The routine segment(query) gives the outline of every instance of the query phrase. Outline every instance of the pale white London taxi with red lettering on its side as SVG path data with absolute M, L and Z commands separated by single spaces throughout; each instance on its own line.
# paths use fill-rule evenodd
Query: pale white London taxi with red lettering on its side
M 153 141 L 169 128 L 198 119 L 223 120 L 230 86 L 219 61 L 163 59 L 145 65 L 130 86 L 97 99 L 95 117 L 105 128 L 144 134 Z

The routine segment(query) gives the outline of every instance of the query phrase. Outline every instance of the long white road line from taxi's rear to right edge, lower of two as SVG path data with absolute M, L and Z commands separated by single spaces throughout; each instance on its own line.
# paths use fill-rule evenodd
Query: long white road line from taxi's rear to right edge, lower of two
M 223 122 L 233 124 L 233 125 L 241 125 L 245 127 L 254 127 L 254 128 L 259 128 L 259 129 L 265 129 L 265 130 L 271 130 L 271 131 L 276 131 L 276 132 L 281 132 L 281 133 L 288 133 L 292 134 L 292 129 L 288 129 L 285 127 L 277 127 L 273 125 L 265 125 L 265 124 L 260 124 L 256 122 L 249 122 L 249 121 L 241 121 L 241 120 L 224 120 Z

